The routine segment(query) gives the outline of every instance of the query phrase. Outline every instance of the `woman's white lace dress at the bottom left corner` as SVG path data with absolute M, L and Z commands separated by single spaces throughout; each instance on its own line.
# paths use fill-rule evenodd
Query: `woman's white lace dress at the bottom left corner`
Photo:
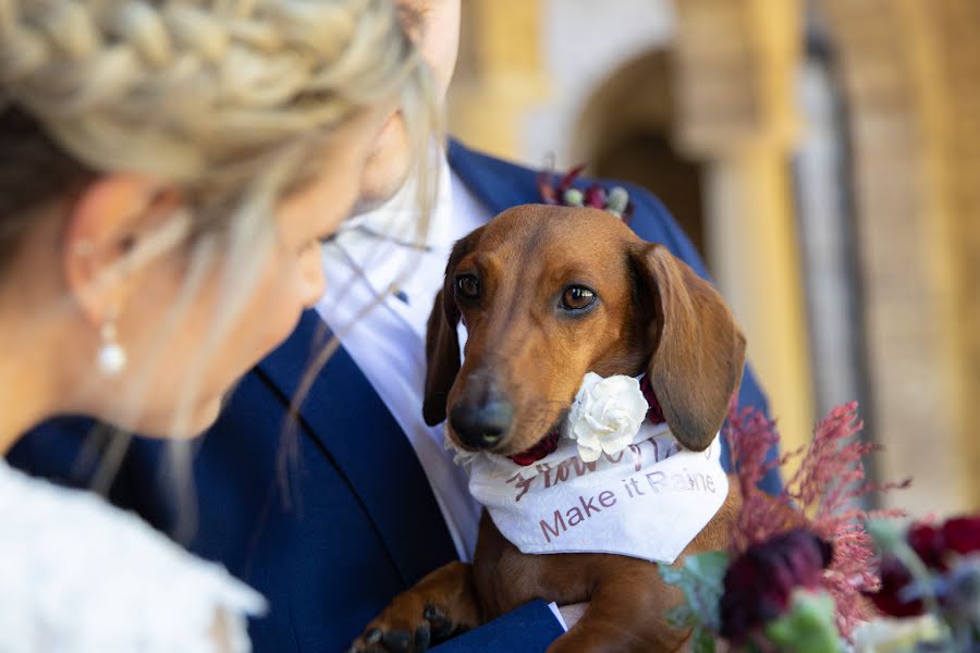
M 137 517 L 0 458 L 0 652 L 245 652 L 245 617 L 264 609 Z

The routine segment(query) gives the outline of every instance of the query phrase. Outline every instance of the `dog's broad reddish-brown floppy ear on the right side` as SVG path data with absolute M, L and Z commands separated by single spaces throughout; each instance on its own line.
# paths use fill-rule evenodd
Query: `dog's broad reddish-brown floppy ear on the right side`
M 645 244 L 633 260 L 641 299 L 656 315 L 647 371 L 653 392 L 674 436 L 702 451 L 742 381 L 745 336 L 718 291 L 663 245 Z

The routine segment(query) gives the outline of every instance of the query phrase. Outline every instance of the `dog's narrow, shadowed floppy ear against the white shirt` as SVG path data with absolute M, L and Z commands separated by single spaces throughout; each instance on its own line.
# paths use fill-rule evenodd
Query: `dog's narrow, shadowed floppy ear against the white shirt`
M 430 427 L 445 420 L 445 404 L 450 390 L 460 373 L 460 308 L 456 306 L 453 287 L 456 266 L 464 256 L 473 251 L 478 229 L 453 246 L 445 266 L 442 289 L 436 295 L 432 312 L 426 328 L 426 396 L 422 402 L 422 417 Z

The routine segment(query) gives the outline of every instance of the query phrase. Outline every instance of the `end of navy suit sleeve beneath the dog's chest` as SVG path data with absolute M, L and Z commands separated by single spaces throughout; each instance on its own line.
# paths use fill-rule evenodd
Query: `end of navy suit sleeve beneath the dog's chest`
M 432 653 L 543 653 L 565 631 L 543 601 L 534 601 L 476 630 L 464 632 Z

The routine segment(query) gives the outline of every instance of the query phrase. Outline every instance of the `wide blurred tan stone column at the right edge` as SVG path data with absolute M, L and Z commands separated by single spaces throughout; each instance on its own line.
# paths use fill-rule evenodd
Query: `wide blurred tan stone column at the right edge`
M 978 359 L 968 346 L 977 323 L 965 307 L 980 285 L 970 270 L 980 208 L 978 7 L 820 7 L 850 112 L 872 415 L 885 447 L 879 472 L 915 478 L 887 504 L 911 515 L 975 509 L 978 448 L 967 414 L 978 415 L 980 386 L 966 375 Z

